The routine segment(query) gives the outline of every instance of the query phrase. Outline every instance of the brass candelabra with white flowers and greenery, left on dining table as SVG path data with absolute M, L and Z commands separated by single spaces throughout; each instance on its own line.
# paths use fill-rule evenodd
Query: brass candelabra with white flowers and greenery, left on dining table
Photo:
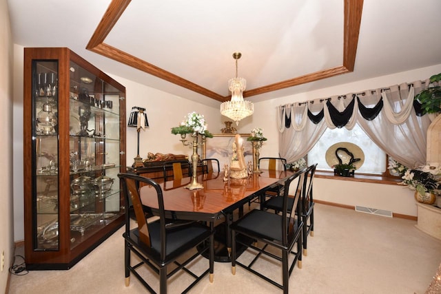
M 185 188 L 194 190 L 202 189 L 203 185 L 198 183 L 198 146 L 203 145 L 205 138 L 212 138 L 213 135 L 207 130 L 207 123 L 202 114 L 197 112 L 190 112 L 185 116 L 185 119 L 181 122 L 179 127 L 172 127 L 172 134 L 181 134 L 181 142 L 184 146 L 192 146 L 192 181 Z M 192 142 L 187 142 L 187 134 L 191 134 L 193 140 Z M 198 138 L 201 136 L 201 143 L 198 143 Z

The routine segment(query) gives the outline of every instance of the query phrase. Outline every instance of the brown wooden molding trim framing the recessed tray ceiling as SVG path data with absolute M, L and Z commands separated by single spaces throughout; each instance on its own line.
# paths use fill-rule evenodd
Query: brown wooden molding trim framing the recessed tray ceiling
M 130 67 L 134 67 L 138 70 L 146 72 L 147 74 L 152 74 L 153 76 L 162 78 L 163 80 L 169 81 L 170 83 L 185 87 L 188 90 L 192 90 L 209 98 L 213 98 L 216 101 L 228 101 L 230 96 L 221 96 L 220 94 L 206 89 L 205 87 L 201 87 L 200 85 L 196 85 L 191 81 L 187 81 L 185 78 L 181 78 L 180 76 L 172 74 L 171 72 L 167 72 L 166 70 L 163 70 L 156 65 L 152 65 L 147 61 L 143 61 L 136 56 L 132 56 L 127 52 L 103 43 L 105 37 L 110 33 L 116 22 L 123 14 L 125 8 L 127 8 L 127 6 L 129 5 L 130 1 L 131 0 L 112 0 L 99 25 L 96 27 L 96 30 L 92 35 L 92 38 L 90 39 L 88 45 L 86 46 L 86 49 L 97 54 L 106 56 L 107 58 L 113 59 L 115 61 L 119 61 L 120 63 L 123 63 Z M 287 81 L 282 81 L 248 90 L 243 93 L 244 96 L 256 96 L 258 94 L 273 92 L 276 90 L 285 89 L 287 87 L 293 87 L 296 85 L 318 81 L 323 78 L 329 78 L 331 76 L 353 72 L 356 60 L 358 35 L 360 33 L 362 7 L 363 0 L 345 0 L 343 65 L 327 70 L 321 70 L 319 72 L 314 72 L 311 74 L 305 74 L 304 76 L 291 78 Z

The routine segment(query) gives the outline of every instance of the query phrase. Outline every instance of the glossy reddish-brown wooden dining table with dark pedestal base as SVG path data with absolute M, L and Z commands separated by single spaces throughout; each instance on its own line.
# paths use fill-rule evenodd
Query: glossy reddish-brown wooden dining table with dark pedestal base
M 229 262 L 231 249 L 230 224 L 236 216 L 243 214 L 243 206 L 259 197 L 265 200 L 265 191 L 282 183 L 294 174 L 292 171 L 268 171 L 250 174 L 247 178 L 223 178 L 223 173 L 211 173 L 198 176 L 202 189 L 185 188 L 192 178 L 163 182 L 163 199 L 166 218 L 176 220 L 196 220 L 203 222 L 220 221 L 215 233 L 215 258 L 217 262 Z M 140 189 L 141 201 L 155 213 L 158 208 L 156 192 L 152 187 Z M 238 253 L 242 253 L 238 251 Z

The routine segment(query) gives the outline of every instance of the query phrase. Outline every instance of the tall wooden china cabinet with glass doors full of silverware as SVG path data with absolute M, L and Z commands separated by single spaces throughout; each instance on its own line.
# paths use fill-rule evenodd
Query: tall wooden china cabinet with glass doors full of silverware
M 24 52 L 26 268 L 70 269 L 124 222 L 125 87 L 68 48 Z

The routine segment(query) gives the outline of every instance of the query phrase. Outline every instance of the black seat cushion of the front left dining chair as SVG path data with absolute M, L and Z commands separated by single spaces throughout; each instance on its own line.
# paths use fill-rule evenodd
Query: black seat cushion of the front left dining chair
M 142 246 L 143 249 L 147 249 L 147 251 L 150 251 L 152 255 L 156 255 L 156 258 L 158 258 L 161 253 L 159 220 L 150 222 L 148 227 L 153 251 L 150 251 L 149 248 L 146 248 L 147 246 L 141 244 L 141 241 L 139 240 L 139 230 L 137 228 L 130 231 L 130 236 L 132 239 L 136 240 L 136 243 L 139 246 Z M 174 229 L 167 229 L 166 231 L 166 260 L 169 260 L 174 255 L 180 255 L 187 249 L 191 249 L 201 241 L 205 240 L 205 238 L 207 238 L 207 236 L 210 234 L 209 227 L 205 227 L 198 222 L 192 222 L 186 226 L 177 227 Z

